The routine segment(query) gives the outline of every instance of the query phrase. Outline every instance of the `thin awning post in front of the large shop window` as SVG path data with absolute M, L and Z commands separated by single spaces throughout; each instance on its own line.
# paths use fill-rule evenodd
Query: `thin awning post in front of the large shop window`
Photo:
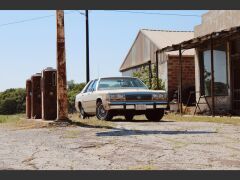
M 212 116 L 215 115 L 215 93 L 214 93 L 214 54 L 213 54 L 213 38 L 211 35 L 211 97 L 212 97 Z

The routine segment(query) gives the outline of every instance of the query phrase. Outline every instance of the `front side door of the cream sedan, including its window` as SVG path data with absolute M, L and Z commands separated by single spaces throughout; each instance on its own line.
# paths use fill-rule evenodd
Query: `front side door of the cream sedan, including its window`
M 97 87 L 98 80 L 94 80 L 91 84 L 91 87 L 89 88 L 87 92 L 87 99 L 85 101 L 87 110 L 86 112 L 94 114 L 96 112 L 96 99 L 97 99 L 97 93 L 96 93 L 96 87 Z

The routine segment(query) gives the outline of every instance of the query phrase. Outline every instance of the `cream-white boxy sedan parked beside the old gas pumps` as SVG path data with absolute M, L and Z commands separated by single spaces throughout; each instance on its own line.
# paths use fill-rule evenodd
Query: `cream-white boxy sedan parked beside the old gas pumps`
M 124 115 L 132 120 L 134 115 L 145 114 L 150 121 L 160 121 L 167 108 L 167 93 L 149 90 L 138 78 L 106 77 L 90 81 L 76 96 L 75 107 L 81 118 L 97 116 L 111 120 Z

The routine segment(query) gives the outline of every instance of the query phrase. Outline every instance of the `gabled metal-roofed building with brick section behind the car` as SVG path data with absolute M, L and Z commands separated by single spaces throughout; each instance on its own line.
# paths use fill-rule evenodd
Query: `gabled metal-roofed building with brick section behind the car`
M 156 51 L 186 41 L 193 38 L 191 31 L 167 31 L 149 30 L 139 31 L 132 47 L 124 59 L 120 72 L 123 76 L 132 76 L 142 66 L 156 64 Z M 178 90 L 178 52 L 160 53 L 158 56 L 158 76 L 165 83 L 165 88 L 169 93 L 169 99 L 173 97 L 173 92 Z M 195 85 L 194 51 L 187 50 L 182 55 L 183 59 L 183 89 Z M 154 73 L 154 72 L 153 72 Z

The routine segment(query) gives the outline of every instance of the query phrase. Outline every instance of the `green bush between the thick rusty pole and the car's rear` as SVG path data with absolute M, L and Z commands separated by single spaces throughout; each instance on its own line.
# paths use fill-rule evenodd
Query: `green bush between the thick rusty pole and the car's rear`
M 85 87 L 85 83 L 74 83 L 73 80 L 68 81 L 68 111 L 69 113 L 74 113 L 75 109 L 75 97 L 78 93 L 82 91 Z

